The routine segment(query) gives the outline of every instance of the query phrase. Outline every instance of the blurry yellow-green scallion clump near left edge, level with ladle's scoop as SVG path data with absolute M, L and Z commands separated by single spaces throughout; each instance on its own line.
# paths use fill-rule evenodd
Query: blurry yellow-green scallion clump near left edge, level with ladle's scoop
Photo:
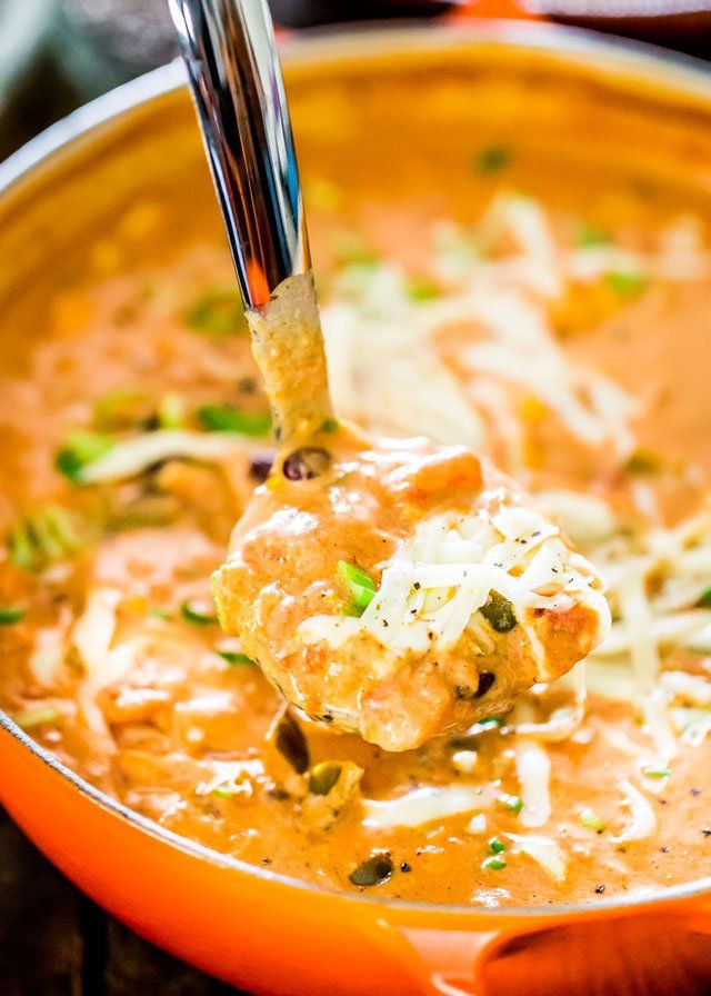
M 74 517 L 58 505 L 22 518 L 8 536 L 8 554 L 14 567 L 41 570 L 84 546 Z

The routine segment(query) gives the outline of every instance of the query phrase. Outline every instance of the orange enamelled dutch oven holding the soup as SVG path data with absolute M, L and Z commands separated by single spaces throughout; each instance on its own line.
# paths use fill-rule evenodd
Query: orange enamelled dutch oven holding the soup
M 611 148 L 627 141 L 633 122 L 641 138 L 630 155 L 642 156 L 649 141 L 660 176 L 683 168 L 695 196 L 711 197 L 711 77 L 701 68 L 565 29 L 505 23 L 288 39 L 284 73 L 307 182 L 310 158 L 328 159 L 339 130 L 319 102 L 319 82 L 338 72 L 383 87 L 408 66 L 432 81 L 427 108 L 413 106 L 412 114 L 427 113 L 435 130 L 500 129 L 501 120 L 487 118 L 500 108 L 484 99 L 495 79 L 505 84 L 512 135 L 532 118 L 538 132 L 550 132 L 551 148 L 583 148 L 595 128 L 579 101 L 592 99 L 589 107 L 605 114 Z M 469 77 L 471 100 L 455 120 L 437 88 L 461 88 Z M 645 136 L 648 118 L 653 133 Z M 339 133 L 359 142 L 357 133 L 343 135 L 342 122 Z M 178 67 L 99 99 L 0 167 L 2 348 L 14 361 L 56 290 L 76 281 L 89 249 L 147 197 L 160 197 L 172 222 L 160 246 L 139 240 L 137 266 L 198 235 L 220 238 Z M 709 868 L 699 868 L 705 877 L 694 883 L 594 905 L 378 900 L 304 885 L 179 838 L 83 781 L 1 713 L 0 773 L 2 805 L 72 882 L 138 934 L 254 993 L 711 992 Z

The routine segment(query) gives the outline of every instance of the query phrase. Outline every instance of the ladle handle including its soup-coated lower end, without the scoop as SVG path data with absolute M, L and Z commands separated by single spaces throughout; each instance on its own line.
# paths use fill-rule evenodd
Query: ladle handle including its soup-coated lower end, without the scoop
M 281 69 L 266 0 L 170 0 L 252 348 L 284 451 L 331 415 Z

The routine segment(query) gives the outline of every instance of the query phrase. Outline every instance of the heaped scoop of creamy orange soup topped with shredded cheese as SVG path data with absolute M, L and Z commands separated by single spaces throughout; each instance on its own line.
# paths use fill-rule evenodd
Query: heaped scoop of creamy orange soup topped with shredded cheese
M 329 420 L 231 539 L 221 624 L 312 717 L 388 750 L 508 709 L 598 645 L 593 568 L 473 452 Z

